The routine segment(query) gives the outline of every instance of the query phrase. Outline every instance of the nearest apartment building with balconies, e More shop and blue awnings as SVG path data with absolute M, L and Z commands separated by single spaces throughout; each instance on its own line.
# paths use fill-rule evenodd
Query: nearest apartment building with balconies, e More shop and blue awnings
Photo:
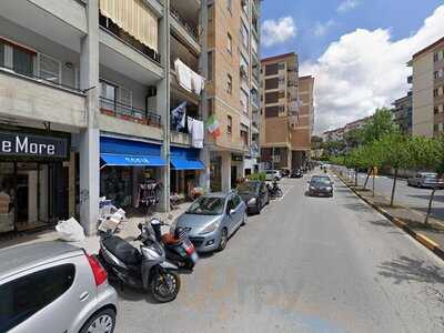
M 170 114 L 203 132 L 201 1 L 117 1 L 0 2 L 0 232 L 75 216 L 93 233 L 101 195 L 130 211 L 157 180 L 168 210 L 205 173 Z

